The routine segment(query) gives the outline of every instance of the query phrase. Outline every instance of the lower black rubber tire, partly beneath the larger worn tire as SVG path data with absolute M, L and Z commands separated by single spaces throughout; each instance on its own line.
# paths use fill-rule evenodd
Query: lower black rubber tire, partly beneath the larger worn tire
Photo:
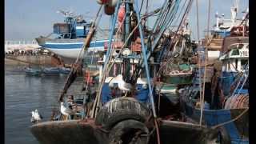
M 135 142 L 130 142 L 134 135 L 140 131 L 140 134 L 149 134 L 149 130 L 142 122 L 133 119 L 118 122 L 109 134 L 109 144 L 118 144 L 122 140 L 122 144 L 148 144 L 150 138 L 148 136 L 138 137 Z

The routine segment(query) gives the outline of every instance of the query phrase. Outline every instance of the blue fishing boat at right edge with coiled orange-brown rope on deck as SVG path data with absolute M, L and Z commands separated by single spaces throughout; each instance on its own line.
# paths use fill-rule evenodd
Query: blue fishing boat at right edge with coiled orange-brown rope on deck
M 201 49 L 202 59 L 199 61 L 202 64 L 194 70 L 197 76 L 194 77 L 193 85 L 179 90 L 184 113 L 207 126 L 226 130 L 231 143 L 249 143 L 247 16 L 240 22 L 240 26 L 230 27 L 230 33 L 223 37 L 220 57 L 209 62 L 211 66 L 206 65 L 206 48 Z

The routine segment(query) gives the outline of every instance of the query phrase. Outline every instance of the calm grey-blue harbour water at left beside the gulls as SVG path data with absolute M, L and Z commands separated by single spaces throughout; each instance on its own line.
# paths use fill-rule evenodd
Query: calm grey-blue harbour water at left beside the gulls
M 30 133 L 31 110 L 38 109 L 43 120 L 49 120 L 57 106 L 66 76 L 26 76 L 18 69 L 5 70 L 5 143 L 38 144 Z M 70 92 L 81 86 L 75 83 Z

